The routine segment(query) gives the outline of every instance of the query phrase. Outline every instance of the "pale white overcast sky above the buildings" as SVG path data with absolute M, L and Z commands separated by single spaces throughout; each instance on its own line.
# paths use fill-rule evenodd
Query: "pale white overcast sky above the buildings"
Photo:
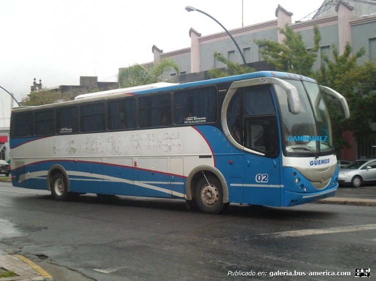
M 242 4 L 243 2 L 243 4 Z M 119 67 L 190 47 L 202 35 L 275 19 L 278 4 L 299 20 L 323 0 L 0 0 L 0 86 L 21 101 L 34 77 L 43 87 L 79 85 L 80 76 L 117 81 Z M 243 8 L 242 8 L 243 6 Z M 0 88 L 0 97 L 7 94 Z M 2 110 L 2 108 L 0 108 Z M 1 116 L 0 116 L 1 118 Z M 2 126 L 0 124 L 0 126 Z

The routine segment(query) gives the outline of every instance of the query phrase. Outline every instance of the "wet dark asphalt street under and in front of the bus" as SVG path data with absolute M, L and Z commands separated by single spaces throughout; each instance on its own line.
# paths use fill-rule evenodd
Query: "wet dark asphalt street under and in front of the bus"
M 48 191 L 0 182 L 0 209 L 0 243 L 19 249 L 58 281 L 247 279 L 245 272 L 260 280 L 290 280 L 289 272 L 304 280 L 346 280 L 355 268 L 376 274 L 371 206 L 231 204 L 208 215 L 180 200 L 101 202 L 81 195 L 60 202 Z M 351 276 L 301 277 L 311 271 Z

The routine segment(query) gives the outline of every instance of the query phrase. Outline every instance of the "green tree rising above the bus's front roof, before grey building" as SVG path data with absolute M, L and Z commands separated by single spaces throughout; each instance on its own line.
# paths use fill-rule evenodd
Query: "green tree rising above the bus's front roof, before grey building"
M 318 26 L 313 26 L 314 47 L 312 49 L 306 48 L 302 35 L 299 32 L 294 32 L 288 24 L 285 28 L 279 28 L 279 32 L 284 35 L 282 43 L 255 39 L 256 44 L 263 46 L 263 48 L 260 48 L 262 57 L 274 65 L 277 71 L 310 76 L 317 51 L 320 48 L 321 35 Z

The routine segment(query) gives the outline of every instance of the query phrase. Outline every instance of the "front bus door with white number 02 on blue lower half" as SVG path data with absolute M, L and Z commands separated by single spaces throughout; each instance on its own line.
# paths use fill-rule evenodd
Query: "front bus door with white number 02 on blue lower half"
M 280 206 L 279 129 L 270 85 L 242 88 L 244 198 L 253 204 Z

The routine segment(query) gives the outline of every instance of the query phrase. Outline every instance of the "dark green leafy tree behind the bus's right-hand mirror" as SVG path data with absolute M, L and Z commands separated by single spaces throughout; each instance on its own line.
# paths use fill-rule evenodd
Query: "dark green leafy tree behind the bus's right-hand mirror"
M 357 139 L 372 135 L 369 121 L 376 121 L 376 64 L 366 62 L 358 65 L 357 60 L 364 52 L 362 47 L 352 54 L 352 47 L 347 43 L 343 54 L 339 55 L 337 48 L 332 46 L 333 60 L 323 55 L 320 71 L 316 72 L 317 81 L 341 93 L 349 105 L 350 118 L 345 120 L 339 106 L 327 98 L 330 118 L 335 124 L 333 135 L 336 147 L 348 145 L 342 138 L 344 130 L 352 131 Z

